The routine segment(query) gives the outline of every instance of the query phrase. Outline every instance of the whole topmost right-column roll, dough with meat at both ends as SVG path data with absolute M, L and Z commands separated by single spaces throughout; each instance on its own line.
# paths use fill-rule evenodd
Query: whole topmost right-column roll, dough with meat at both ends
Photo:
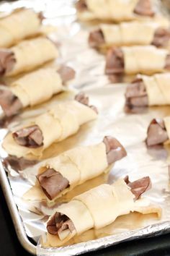
M 76 4 L 80 20 L 135 20 L 153 17 L 151 0 L 79 0 Z

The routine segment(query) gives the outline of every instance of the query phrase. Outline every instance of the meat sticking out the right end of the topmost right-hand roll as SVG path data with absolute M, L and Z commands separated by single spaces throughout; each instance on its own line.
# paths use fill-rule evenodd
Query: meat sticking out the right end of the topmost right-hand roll
M 143 16 L 153 16 L 154 12 L 151 5 L 151 0 L 139 0 L 134 9 L 135 14 Z

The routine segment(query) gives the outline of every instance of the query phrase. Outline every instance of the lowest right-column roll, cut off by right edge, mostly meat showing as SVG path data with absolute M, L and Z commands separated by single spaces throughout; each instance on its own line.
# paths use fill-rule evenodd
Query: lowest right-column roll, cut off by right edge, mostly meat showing
M 148 126 L 146 144 L 148 146 L 163 144 L 170 139 L 170 116 L 153 119 Z

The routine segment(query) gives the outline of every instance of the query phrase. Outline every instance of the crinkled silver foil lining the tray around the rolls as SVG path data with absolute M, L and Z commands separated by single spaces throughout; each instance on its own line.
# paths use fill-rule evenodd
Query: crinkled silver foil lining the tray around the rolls
M 87 184 L 82 185 L 74 193 L 83 192 L 94 184 L 101 182 L 112 183 L 116 179 L 129 175 L 130 179 L 139 179 L 150 176 L 153 187 L 146 192 L 147 197 L 154 204 L 161 206 L 163 213 L 161 220 L 153 214 L 141 216 L 139 213 L 130 213 L 128 216 L 117 218 L 115 223 L 106 227 L 101 232 L 86 232 L 77 238 L 76 244 L 61 248 L 42 248 L 40 236 L 45 236 L 45 216 L 35 213 L 39 202 L 23 200 L 22 196 L 35 184 L 35 169 L 27 168 L 18 173 L 9 168 L 8 177 L 12 187 L 14 200 L 17 204 L 19 214 L 22 217 L 24 229 L 27 236 L 34 239 L 37 245 L 37 255 L 79 255 L 112 244 L 117 244 L 128 239 L 138 239 L 144 236 L 163 234 L 170 230 L 170 191 L 169 191 L 169 146 L 146 148 L 144 140 L 149 122 L 153 118 L 161 118 L 170 115 L 170 108 L 154 107 L 148 108 L 140 114 L 126 114 L 125 84 L 109 83 L 104 75 L 104 55 L 89 48 L 87 43 L 90 25 L 82 25 L 76 20 L 74 1 L 69 0 L 27 0 L 14 3 L 3 2 L 1 12 L 9 13 L 17 7 L 32 7 L 36 11 L 42 11 L 45 15 L 46 25 L 58 27 L 57 33 L 52 38 L 58 42 L 60 58 L 58 64 L 68 64 L 76 70 L 76 79 L 71 82 L 71 93 L 63 93 L 55 96 L 61 101 L 73 97 L 74 89 L 84 91 L 89 95 L 92 104 L 99 110 L 97 121 L 81 127 L 80 131 L 67 140 L 53 145 L 45 153 L 44 158 L 56 155 L 63 150 L 73 148 L 76 145 L 89 145 L 100 142 L 105 135 L 116 137 L 125 146 L 128 156 L 115 163 L 109 176 L 100 176 Z M 93 25 L 94 27 L 94 25 Z M 53 103 L 53 101 L 50 101 Z M 42 108 L 28 109 L 19 116 L 19 119 L 27 119 L 43 111 Z M 13 127 L 16 123 L 10 124 Z M 3 140 L 6 129 L 0 130 L 0 138 Z M 1 157 L 6 153 L 1 149 Z M 89 187 L 88 187 L 89 186 Z M 68 200 L 69 196 L 65 198 Z M 42 205 L 41 205 L 42 207 Z M 40 208 L 39 208 L 40 210 Z M 47 214 L 49 209 L 42 209 Z M 32 212 L 34 211 L 34 212 Z M 134 218 L 135 217 L 135 218 Z M 134 221 L 135 220 L 135 221 Z M 19 229 L 19 227 L 17 227 Z

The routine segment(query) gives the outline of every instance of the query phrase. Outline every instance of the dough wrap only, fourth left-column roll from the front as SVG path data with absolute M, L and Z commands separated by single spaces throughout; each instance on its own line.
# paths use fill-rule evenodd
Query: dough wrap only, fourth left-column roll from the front
M 39 69 L 26 74 L 12 83 L 12 93 L 24 107 L 48 101 L 55 93 L 63 90 L 60 74 L 55 69 Z

